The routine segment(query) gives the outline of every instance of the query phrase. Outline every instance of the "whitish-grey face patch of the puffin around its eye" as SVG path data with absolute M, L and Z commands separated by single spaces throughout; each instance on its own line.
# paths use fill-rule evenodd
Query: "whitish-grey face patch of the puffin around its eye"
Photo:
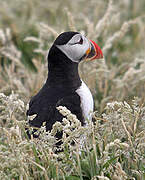
M 79 63 L 86 55 L 86 51 L 91 48 L 89 40 L 81 35 L 74 35 L 65 45 L 56 45 L 69 59 Z

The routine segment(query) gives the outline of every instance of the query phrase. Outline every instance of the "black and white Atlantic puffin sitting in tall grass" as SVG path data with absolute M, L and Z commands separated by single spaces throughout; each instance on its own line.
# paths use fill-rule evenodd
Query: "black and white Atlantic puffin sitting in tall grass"
M 56 121 L 63 116 L 56 107 L 65 106 L 77 116 L 82 125 L 93 112 L 93 97 L 80 79 L 78 65 L 83 60 L 103 58 L 100 47 L 79 32 L 61 33 L 51 46 L 48 60 L 48 78 L 40 91 L 29 102 L 27 116 L 36 114 L 29 120 L 29 126 L 40 128 L 46 122 L 50 131 Z M 38 135 L 33 134 L 33 137 Z

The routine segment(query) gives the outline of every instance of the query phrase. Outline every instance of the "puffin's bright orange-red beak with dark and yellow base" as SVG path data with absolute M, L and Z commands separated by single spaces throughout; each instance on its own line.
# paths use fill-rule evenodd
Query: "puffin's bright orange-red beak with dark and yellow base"
M 102 59 L 103 53 L 101 48 L 92 40 L 90 40 L 90 48 L 86 51 L 86 60 L 91 61 L 94 59 Z

